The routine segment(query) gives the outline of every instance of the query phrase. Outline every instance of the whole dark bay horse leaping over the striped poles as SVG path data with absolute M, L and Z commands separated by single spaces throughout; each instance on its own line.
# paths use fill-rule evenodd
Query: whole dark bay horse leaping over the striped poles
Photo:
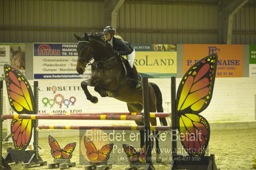
M 75 35 L 75 34 L 74 34 Z M 93 86 L 101 97 L 113 97 L 127 103 L 129 112 L 141 112 L 143 109 L 143 94 L 142 89 L 136 89 L 134 81 L 125 75 L 125 69 L 120 56 L 113 54 L 113 48 L 108 42 L 101 39 L 100 36 L 84 33 L 84 36 L 75 35 L 77 44 L 77 66 L 76 70 L 79 74 L 83 74 L 86 66 L 92 59 L 92 77 L 81 82 L 81 87 L 86 95 L 86 98 L 93 103 L 98 102 L 98 98 L 90 94 L 87 86 Z M 163 112 L 162 94 L 159 87 L 152 83 L 149 86 L 149 111 Z M 159 118 L 162 125 L 167 126 L 165 118 Z M 152 126 L 156 126 L 156 118 L 150 118 Z M 143 125 L 142 122 L 136 121 L 137 125 Z M 159 134 L 158 131 L 153 131 L 156 139 L 157 161 L 161 161 L 159 157 Z M 144 145 L 144 131 L 140 131 L 141 148 Z

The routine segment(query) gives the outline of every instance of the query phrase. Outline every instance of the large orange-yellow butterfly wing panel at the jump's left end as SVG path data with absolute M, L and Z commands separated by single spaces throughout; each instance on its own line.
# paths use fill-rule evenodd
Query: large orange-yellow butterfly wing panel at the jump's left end
M 8 100 L 18 114 L 33 114 L 33 92 L 26 77 L 17 68 L 5 64 L 4 75 Z M 32 136 L 32 120 L 12 120 L 11 134 L 16 150 L 25 150 Z

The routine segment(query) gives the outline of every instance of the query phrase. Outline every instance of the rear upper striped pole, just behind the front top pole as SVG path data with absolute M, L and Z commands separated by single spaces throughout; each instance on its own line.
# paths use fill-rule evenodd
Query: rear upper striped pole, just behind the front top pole
M 141 115 L 141 112 L 95 112 L 95 113 L 40 113 L 37 115 Z M 150 112 L 150 118 L 166 118 L 169 117 L 170 113 L 168 112 Z

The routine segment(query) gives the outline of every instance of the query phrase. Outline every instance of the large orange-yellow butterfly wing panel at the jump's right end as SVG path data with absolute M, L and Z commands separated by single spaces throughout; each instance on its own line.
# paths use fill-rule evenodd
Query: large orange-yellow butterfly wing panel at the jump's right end
M 189 156 L 202 157 L 210 139 L 210 125 L 200 116 L 210 104 L 218 56 L 212 54 L 196 62 L 179 84 L 177 116 L 180 141 Z

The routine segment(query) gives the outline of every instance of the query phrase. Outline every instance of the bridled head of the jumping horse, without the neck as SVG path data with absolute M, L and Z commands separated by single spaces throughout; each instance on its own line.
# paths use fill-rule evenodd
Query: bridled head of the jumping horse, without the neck
M 92 44 L 90 43 L 89 37 L 86 33 L 84 33 L 84 36 L 81 36 L 81 37 L 76 34 L 74 35 L 78 40 L 78 44 L 77 44 L 78 59 L 77 59 L 76 71 L 79 74 L 83 74 L 85 71 L 86 65 L 93 58 L 94 51 L 93 51 Z

